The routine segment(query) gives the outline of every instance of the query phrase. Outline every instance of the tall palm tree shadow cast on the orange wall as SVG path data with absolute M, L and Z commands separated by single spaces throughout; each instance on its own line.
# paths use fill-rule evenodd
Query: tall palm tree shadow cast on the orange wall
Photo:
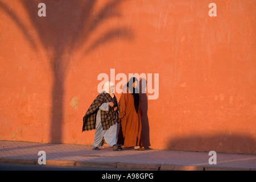
M 125 0 L 108 1 L 96 13 L 94 7 L 98 3 L 97 0 L 20 0 L 38 34 L 40 43 L 47 52 L 48 61 L 51 63 L 53 73 L 51 143 L 62 142 L 64 81 L 72 53 L 85 44 L 88 44 L 85 49 L 85 54 L 88 54 L 110 40 L 116 38 L 133 39 L 133 32 L 123 26 L 109 28 L 94 42 L 88 42 L 92 33 L 98 30 L 106 20 L 122 17 L 118 6 L 123 1 Z M 41 2 L 46 4 L 46 17 L 38 16 L 38 4 Z M 13 20 L 30 43 L 30 46 L 36 51 L 37 43 L 30 34 L 29 26 L 19 18 L 18 12 L 11 10 L 3 2 L 0 2 L 0 9 Z

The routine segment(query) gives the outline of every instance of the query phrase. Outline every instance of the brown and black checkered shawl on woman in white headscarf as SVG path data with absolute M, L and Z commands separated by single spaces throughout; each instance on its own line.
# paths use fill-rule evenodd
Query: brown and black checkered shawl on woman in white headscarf
M 101 92 L 92 102 L 89 109 L 84 115 L 84 124 L 82 126 L 82 131 L 96 129 L 96 115 L 99 107 L 105 102 L 113 102 L 114 106 L 109 106 L 109 111 L 101 110 L 101 124 L 103 130 L 108 130 L 110 126 L 114 125 L 119 121 L 117 111 L 114 111 L 114 107 L 118 107 L 117 98 L 115 96 L 114 98 L 112 98 L 109 93 Z

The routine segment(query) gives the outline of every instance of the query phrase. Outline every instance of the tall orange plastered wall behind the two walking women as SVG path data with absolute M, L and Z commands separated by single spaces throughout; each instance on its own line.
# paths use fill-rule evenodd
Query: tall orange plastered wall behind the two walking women
M 254 0 L 0 0 L 0 139 L 92 144 L 82 117 L 97 76 L 115 69 L 159 73 L 158 99 L 142 95 L 145 146 L 256 154 L 255 9 Z

